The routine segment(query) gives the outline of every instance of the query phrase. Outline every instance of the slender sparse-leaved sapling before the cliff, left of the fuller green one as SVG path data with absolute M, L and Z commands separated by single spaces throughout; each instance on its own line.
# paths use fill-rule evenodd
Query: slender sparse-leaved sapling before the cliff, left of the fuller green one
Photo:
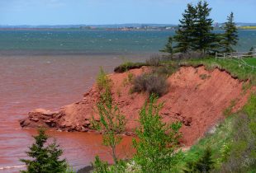
M 101 70 L 101 74 L 105 74 Z M 126 127 L 126 119 L 117 105 L 114 104 L 111 96 L 110 80 L 107 75 L 102 75 L 105 88 L 103 88 L 100 101 L 97 102 L 97 113 L 100 116 L 99 122 L 92 115 L 92 128 L 103 131 L 103 144 L 111 147 L 111 156 L 117 163 L 116 146 L 121 143 L 122 137 L 118 134 L 124 132 Z

